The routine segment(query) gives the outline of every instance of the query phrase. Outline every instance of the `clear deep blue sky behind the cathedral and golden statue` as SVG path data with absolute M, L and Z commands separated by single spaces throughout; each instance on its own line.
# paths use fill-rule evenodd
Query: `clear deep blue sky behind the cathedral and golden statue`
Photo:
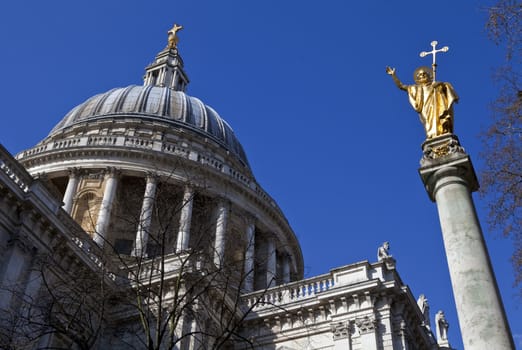
M 276 199 L 303 248 L 308 277 L 376 260 L 385 240 L 415 297 L 443 309 L 462 349 L 437 210 L 417 173 L 424 131 L 405 83 L 429 65 L 460 96 L 455 133 L 477 172 L 497 90 L 501 48 L 484 30 L 491 1 L 20 0 L 0 4 L 0 142 L 31 147 L 75 105 L 141 84 L 174 22 L 187 93 L 234 128 L 258 182 Z M 517 346 L 521 303 L 512 246 L 488 232 L 474 195 Z

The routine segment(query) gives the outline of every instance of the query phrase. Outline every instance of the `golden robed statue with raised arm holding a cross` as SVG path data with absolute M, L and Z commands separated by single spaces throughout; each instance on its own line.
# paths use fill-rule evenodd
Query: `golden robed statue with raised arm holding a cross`
M 415 85 L 404 85 L 395 75 L 395 68 L 386 67 L 386 73 L 391 75 L 395 85 L 408 93 L 410 103 L 419 113 L 428 139 L 453 133 L 453 103 L 459 100 L 450 83 L 438 82 L 434 78 L 437 66 L 435 54 L 448 51 L 448 47 L 435 50 L 436 41 L 433 41 L 431 45 L 433 51 L 421 52 L 421 57 L 427 54 L 433 55 L 433 70 L 428 67 L 417 68 L 413 73 Z

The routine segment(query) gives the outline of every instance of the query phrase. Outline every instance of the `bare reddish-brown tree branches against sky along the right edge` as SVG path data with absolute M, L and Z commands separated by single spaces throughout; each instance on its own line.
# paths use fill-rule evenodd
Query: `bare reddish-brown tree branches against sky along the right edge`
M 489 201 L 489 225 L 514 242 L 512 257 L 516 283 L 522 282 L 522 4 L 499 0 L 488 9 L 486 29 L 503 46 L 505 64 L 495 81 L 499 95 L 493 103 L 492 123 L 482 134 L 485 161 L 481 194 Z

